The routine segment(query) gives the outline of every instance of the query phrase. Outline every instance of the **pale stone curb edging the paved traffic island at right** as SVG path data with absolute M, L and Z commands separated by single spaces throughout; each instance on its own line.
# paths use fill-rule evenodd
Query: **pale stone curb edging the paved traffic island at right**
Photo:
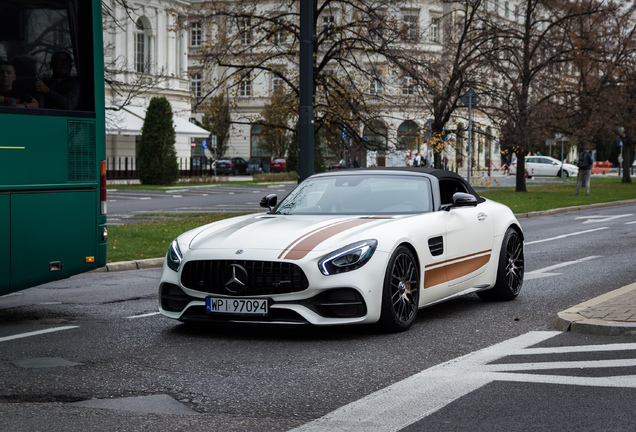
M 617 297 L 632 294 L 636 291 L 636 283 L 610 291 L 586 302 L 580 303 L 562 312 L 559 312 L 554 321 L 554 327 L 560 331 L 586 333 L 603 336 L 636 336 L 636 322 L 606 321 L 599 318 L 588 318 L 581 314 L 587 309 L 593 309 L 602 303 L 609 302 Z

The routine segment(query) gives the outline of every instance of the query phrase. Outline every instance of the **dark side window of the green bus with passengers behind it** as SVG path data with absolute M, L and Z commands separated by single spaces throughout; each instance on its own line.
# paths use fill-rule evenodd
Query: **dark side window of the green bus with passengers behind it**
M 84 42 L 92 34 L 86 3 L 2 2 L 0 107 L 95 110 L 92 47 Z

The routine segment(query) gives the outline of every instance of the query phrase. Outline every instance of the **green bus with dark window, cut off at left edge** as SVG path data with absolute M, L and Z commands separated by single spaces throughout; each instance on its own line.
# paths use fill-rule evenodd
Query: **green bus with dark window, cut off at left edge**
M 101 7 L 0 2 L 0 295 L 106 265 Z

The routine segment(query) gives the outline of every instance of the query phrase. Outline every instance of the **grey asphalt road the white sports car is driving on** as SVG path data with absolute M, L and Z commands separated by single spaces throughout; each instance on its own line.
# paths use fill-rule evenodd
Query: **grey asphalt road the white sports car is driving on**
M 515 301 L 463 297 L 422 310 L 401 334 L 190 327 L 156 314 L 158 269 L 1 297 L 3 427 L 634 430 L 634 338 L 562 334 L 552 322 L 636 280 L 636 205 L 521 223 Z

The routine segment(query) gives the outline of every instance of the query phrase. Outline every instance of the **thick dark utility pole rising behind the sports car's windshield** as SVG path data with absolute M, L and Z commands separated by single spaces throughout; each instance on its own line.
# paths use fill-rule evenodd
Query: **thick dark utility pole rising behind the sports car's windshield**
M 314 173 L 314 0 L 300 0 L 298 183 Z

